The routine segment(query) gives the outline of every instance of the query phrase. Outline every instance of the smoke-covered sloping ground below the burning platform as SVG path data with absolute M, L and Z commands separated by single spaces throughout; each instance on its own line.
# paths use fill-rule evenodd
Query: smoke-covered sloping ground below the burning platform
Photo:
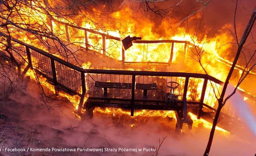
M 88 155 L 88 156 L 152 156 L 161 145 L 159 156 L 202 155 L 209 137 L 209 130 L 201 127 L 175 135 L 172 118 L 102 115 L 95 112 L 93 119 L 81 120 L 73 114 L 69 102 L 47 99 L 43 103 L 40 89 L 34 83 L 17 88 L 6 98 L 0 99 L 0 155 Z M 52 96 L 54 97 L 54 96 Z M 45 104 L 51 107 L 48 109 Z M 135 126 L 130 127 L 131 123 Z M 241 135 L 241 133 L 243 135 Z M 141 152 L 126 151 L 52 151 L 55 149 L 118 149 L 137 148 Z M 255 136 L 249 131 L 236 135 L 223 135 L 216 131 L 211 156 L 244 156 L 256 153 Z M 5 151 L 23 149 L 27 151 Z M 32 148 L 32 149 L 31 149 Z M 33 149 L 51 151 L 33 151 Z M 143 151 L 145 148 L 145 151 Z

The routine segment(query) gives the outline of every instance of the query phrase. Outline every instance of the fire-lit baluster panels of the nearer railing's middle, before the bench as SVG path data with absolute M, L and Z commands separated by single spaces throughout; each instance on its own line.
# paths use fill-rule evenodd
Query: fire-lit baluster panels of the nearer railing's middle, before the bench
M 133 74 L 133 71 L 121 71 L 120 74 L 124 73 Z M 150 73 L 150 72 L 149 72 Z M 156 72 L 154 72 L 156 73 Z M 120 74 L 91 74 L 87 75 L 86 80 L 88 81 L 88 92 L 91 97 L 104 97 L 104 89 L 97 85 L 98 82 L 114 82 L 117 84 L 128 85 L 123 88 L 108 88 L 106 92 L 108 98 L 122 98 L 129 99 L 131 96 L 131 83 L 132 75 L 120 75 Z M 175 74 L 174 74 L 175 75 Z M 135 76 L 135 99 L 150 99 L 150 100 L 165 100 L 166 93 L 172 92 L 172 89 L 167 86 L 168 83 L 175 83 L 177 87 L 173 89 L 173 94 L 178 96 L 178 100 L 182 101 L 184 84 L 186 77 L 177 76 Z M 203 78 L 189 78 L 189 87 L 187 91 L 187 101 L 199 102 L 202 89 Z M 148 84 L 146 87 L 140 89 L 140 85 Z M 144 85 L 145 86 L 145 85 Z M 210 86 L 208 86 L 210 87 Z M 147 92 L 147 94 L 145 94 Z M 210 94 L 210 92 L 208 93 Z M 145 98 L 147 97 L 147 98 Z M 209 96 L 208 96 L 209 97 Z M 207 100 L 207 99 L 206 99 Z M 205 101 L 205 100 L 204 100 Z M 209 102 L 207 102 L 209 103 Z

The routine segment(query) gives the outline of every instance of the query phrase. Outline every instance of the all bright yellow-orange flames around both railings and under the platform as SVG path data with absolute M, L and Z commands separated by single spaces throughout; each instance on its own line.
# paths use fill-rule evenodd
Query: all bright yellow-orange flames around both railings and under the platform
M 58 2 L 58 1 L 57 1 Z M 57 6 L 57 2 L 52 2 L 49 4 L 52 7 Z M 81 28 L 87 28 L 95 30 L 95 32 L 99 33 L 93 33 L 93 32 L 87 32 L 87 39 L 88 39 L 88 48 L 90 50 L 94 50 L 97 53 L 104 53 L 104 50 L 106 51 L 106 55 L 109 57 L 113 57 L 116 60 L 122 60 L 122 44 L 121 39 L 130 35 L 130 36 L 137 36 L 142 37 L 143 40 L 177 40 L 177 41 L 188 41 L 189 44 L 187 52 L 185 52 L 185 44 L 184 43 L 175 43 L 173 46 L 173 56 L 172 60 L 170 57 L 170 49 L 172 44 L 171 43 L 157 43 L 157 44 L 138 44 L 134 43 L 134 45 L 126 50 L 125 52 L 125 62 L 173 62 L 175 64 L 179 64 L 178 58 L 179 57 L 185 57 L 188 59 L 190 55 L 193 53 L 202 55 L 204 57 L 204 61 L 202 61 L 202 66 L 207 69 L 208 73 L 220 80 L 225 80 L 226 73 L 227 73 L 227 67 L 223 67 L 222 65 L 225 64 L 230 66 L 230 61 L 223 58 L 222 54 L 220 52 L 222 51 L 228 51 L 230 50 L 230 44 L 229 43 L 232 38 L 228 36 L 225 32 L 219 32 L 218 35 L 215 37 L 207 37 L 203 36 L 199 39 L 199 37 L 195 35 L 189 34 L 185 28 L 178 28 L 176 32 L 171 32 L 171 26 L 170 25 L 164 25 L 163 32 L 157 32 L 155 30 L 155 26 L 153 23 L 148 23 L 147 19 L 145 18 L 135 18 L 133 17 L 133 10 L 130 7 L 126 7 L 123 9 L 120 9 L 119 11 L 113 11 L 110 15 L 111 18 L 114 20 L 110 20 L 108 24 L 104 24 L 104 26 L 95 25 L 92 21 L 97 21 L 97 19 L 94 18 L 94 16 L 89 17 L 83 17 L 82 15 L 87 14 L 87 12 L 80 10 L 78 12 L 78 15 L 75 17 L 64 17 L 61 18 L 57 14 L 55 14 L 54 11 L 49 10 L 44 3 L 33 2 L 31 1 L 31 4 L 36 9 L 33 9 L 32 7 L 27 7 L 26 5 L 21 5 L 20 12 L 24 16 L 17 16 L 14 18 L 15 22 L 22 23 L 22 27 L 25 29 L 27 28 L 25 25 L 36 25 L 39 30 L 50 32 L 51 26 L 53 29 L 53 33 L 55 36 L 59 37 L 63 43 L 68 44 L 69 42 L 75 43 L 79 46 L 86 47 L 86 39 L 85 39 L 85 31 L 78 29 L 78 28 L 72 28 L 70 26 L 65 26 L 63 23 L 73 24 L 74 26 L 80 26 Z M 105 6 L 104 6 L 105 7 Z M 50 11 L 50 12 L 49 12 Z M 102 12 L 99 9 L 93 8 L 93 11 L 95 12 L 95 15 L 97 16 L 103 16 Z M 56 21 L 50 20 L 50 14 L 52 18 L 54 18 Z M 130 16 L 129 16 L 130 15 Z M 78 19 L 78 21 L 76 20 Z M 89 20 L 91 19 L 91 21 Z M 59 23 L 57 22 L 59 21 Z M 63 23 L 60 23 L 63 22 Z M 162 21 L 162 23 L 165 23 L 166 21 Z M 45 27 L 44 27 L 45 26 Z M 44 30 L 45 29 L 45 30 Z M 9 30 L 11 30 L 11 34 L 14 37 L 19 37 L 22 41 L 24 41 L 27 44 L 31 44 L 33 46 L 36 46 L 42 50 L 48 51 L 51 53 L 47 47 L 40 44 L 38 39 L 31 34 L 26 34 L 24 31 L 20 31 L 16 27 L 12 27 Z M 106 36 L 101 35 L 100 33 L 106 34 L 108 37 L 109 35 L 116 37 L 117 39 L 107 39 Z M 70 37 L 70 38 L 69 38 Z M 45 39 L 45 38 L 43 38 Z M 106 44 L 106 49 L 102 49 L 103 44 Z M 63 56 L 59 53 L 52 53 L 53 55 L 64 58 L 66 56 Z M 67 54 L 69 55 L 69 54 Z M 34 60 L 34 64 L 37 63 L 36 59 Z M 209 64 L 209 61 L 212 60 L 213 62 Z M 190 62 L 187 61 L 187 62 Z M 201 67 L 197 64 L 193 64 L 194 69 L 197 70 L 197 72 L 204 72 L 201 69 Z M 82 63 L 81 67 L 83 69 L 89 69 L 91 63 Z M 189 66 L 189 65 L 188 65 Z M 223 67 L 223 68 L 219 68 Z M 242 66 L 238 66 L 238 68 L 242 68 Z M 95 67 L 97 68 L 97 67 Z M 200 68 L 200 69 L 199 69 Z M 237 69 L 238 69 L 237 68 Z M 103 67 L 103 69 L 110 69 L 107 67 Z M 114 69 L 114 68 L 112 68 Z M 219 72 L 219 70 L 222 69 L 223 72 Z M 141 70 L 136 69 L 136 67 L 129 68 L 126 70 Z M 143 69 L 149 70 L 149 71 L 161 71 L 161 69 L 156 69 L 154 67 L 149 69 Z M 192 71 L 194 72 L 194 71 Z M 87 73 L 85 73 L 87 74 Z M 29 69 L 26 75 L 31 76 L 33 80 L 36 80 L 36 75 L 33 70 Z M 85 76 L 86 77 L 86 76 Z M 53 85 L 47 82 L 46 78 L 43 78 L 41 76 L 38 77 L 41 85 L 44 87 L 47 87 L 55 94 L 55 88 Z M 185 80 L 181 80 L 181 84 L 184 84 Z M 199 90 L 203 86 L 202 80 L 197 80 L 197 92 L 196 95 L 192 94 L 192 91 L 194 89 L 194 86 L 189 86 L 188 92 L 186 95 L 187 99 L 191 99 L 195 97 L 195 101 L 199 101 L 199 97 L 201 97 L 201 92 Z M 87 82 L 87 81 L 85 81 Z M 213 87 L 212 87 L 213 86 Z M 87 87 L 88 88 L 88 87 Z M 212 82 L 207 83 L 206 87 L 206 96 L 204 98 L 204 103 L 208 104 L 211 107 L 215 106 L 216 103 L 216 97 L 219 96 L 220 92 L 220 86 L 218 84 L 214 84 Z M 214 94 L 216 93 L 216 95 Z M 175 92 L 176 93 L 176 92 Z M 71 96 L 69 94 L 66 94 L 65 92 L 59 92 L 60 96 L 64 96 L 71 103 L 73 103 L 74 109 L 78 109 L 78 103 L 80 101 L 80 97 L 75 95 Z M 86 101 L 86 98 L 85 98 Z M 85 102 L 84 101 L 84 102 Z M 101 113 L 108 113 L 115 115 L 117 112 L 121 112 L 126 115 L 130 115 L 130 112 L 127 112 L 125 110 L 121 109 L 112 109 L 112 108 L 96 108 L 95 111 L 101 112 Z M 204 119 L 197 120 L 195 115 L 192 113 L 189 113 L 191 118 L 194 121 L 193 126 L 197 127 L 199 123 L 203 124 L 206 128 L 211 128 L 211 124 L 207 122 Z M 173 111 L 151 111 L 151 110 L 141 110 L 136 111 L 135 116 L 147 116 L 147 117 L 171 117 L 175 118 L 175 113 Z M 133 124 L 130 125 L 131 127 L 135 126 Z M 222 128 L 216 128 L 219 131 L 222 131 L 225 134 L 229 134 L 228 131 L 225 131 Z

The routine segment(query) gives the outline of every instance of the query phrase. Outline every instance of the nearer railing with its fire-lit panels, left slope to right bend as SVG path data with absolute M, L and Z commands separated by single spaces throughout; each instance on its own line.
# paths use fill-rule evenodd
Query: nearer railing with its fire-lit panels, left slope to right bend
M 178 101 L 183 101 L 186 97 L 187 103 L 199 104 L 212 108 L 216 106 L 216 98 L 213 94 L 214 89 L 220 88 L 217 83 L 208 80 L 204 74 L 192 73 L 168 73 L 168 72 L 145 72 L 145 71 L 105 71 L 90 70 L 85 71 L 64 60 L 55 57 L 43 50 L 30 46 L 17 39 L 12 39 L 12 54 L 27 67 L 32 67 L 45 78 L 52 82 L 56 89 L 62 89 L 69 94 L 85 95 L 94 98 L 122 98 L 132 100 L 146 100 L 151 103 L 165 103 L 166 93 L 172 92 L 167 83 L 174 82 L 178 87 L 173 90 L 173 95 L 177 96 Z M 19 53 L 17 53 L 17 51 Z M 7 55 L 7 53 L 5 53 Z M 19 54 L 19 55 L 17 55 Z M 26 72 L 27 67 L 24 68 Z M 93 73 L 95 72 L 95 73 Z M 107 72 L 107 73 L 106 73 Z M 116 73 L 117 72 L 117 73 Z M 86 73 L 86 74 L 85 74 Z M 115 74 L 116 73 L 116 74 Z M 128 74 L 129 73 L 129 74 Z M 141 73 L 144 73 L 142 75 Z M 86 75 L 86 76 L 85 76 Z M 180 75 L 180 76 L 177 76 Z M 197 78 L 197 76 L 199 78 Z M 201 78 L 200 78 L 201 77 Z M 211 77 L 212 78 L 212 77 Z M 85 82 L 85 79 L 87 82 Z M 134 81 L 133 81 L 134 79 Z M 187 79 L 187 91 L 184 94 Z M 96 82 L 112 82 L 119 87 L 101 87 Z M 87 86 L 85 86 L 87 83 Z M 218 81 L 220 83 L 220 81 Z M 127 86 L 122 86 L 122 85 Z M 146 85 L 145 85 L 146 84 Z M 98 85 L 98 86 L 97 86 Z M 134 89 L 131 89 L 134 85 Z M 122 88 L 123 87 L 123 88 Z

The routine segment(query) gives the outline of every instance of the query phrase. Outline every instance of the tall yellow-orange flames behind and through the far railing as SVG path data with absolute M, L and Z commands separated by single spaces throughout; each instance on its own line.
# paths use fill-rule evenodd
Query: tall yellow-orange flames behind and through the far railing
M 189 41 L 191 44 L 194 44 L 196 46 L 199 46 L 204 51 L 207 52 L 208 60 L 213 59 L 213 57 L 218 57 L 218 54 L 216 52 L 216 41 L 223 43 L 223 40 L 225 40 L 224 43 L 227 43 L 230 39 L 227 37 L 228 35 L 225 35 L 224 33 L 218 34 L 218 36 L 221 37 L 215 37 L 215 38 L 207 38 L 203 37 L 201 41 L 197 38 L 197 36 L 190 35 L 186 32 L 185 28 L 178 28 L 177 31 L 174 32 L 155 32 L 155 26 L 153 23 L 148 23 L 147 19 L 145 18 L 133 18 L 133 16 L 137 16 L 133 14 L 133 10 L 131 7 L 125 7 L 118 11 L 113 11 L 109 16 L 113 18 L 112 21 L 109 21 L 109 25 L 95 25 L 92 21 L 97 21 L 95 16 L 89 17 L 89 18 L 83 18 L 83 14 L 86 14 L 84 10 L 79 10 L 80 14 L 77 14 L 76 17 L 64 17 L 61 18 L 57 16 L 54 12 L 51 12 L 44 3 L 40 2 L 31 2 L 33 7 L 36 7 L 38 11 L 35 11 L 35 9 L 32 9 L 30 7 L 23 6 L 21 7 L 21 13 L 22 14 L 29 14 L 29 16 L 25 16 L 24 19 L 15 19 L 17 21 L 22 21 L 24 24 L 38 24 L 40 27 L 43 25 L 47 26 L 47 29 L 50 29 L 50 25 L 52 25 L 52 29 L 54 34 L 61 38 L 64 42 L 66 42 L 67 37 L 70 37 L 71 43 L 76 43 L 80 46 L 85 47 L 85 39 L 84 35 L 85 32 L 78 28 L 72 28 L 70 26 L 65 26 L 63 23 L 58 23 L 56 21 L 64 22 L 64 23 L 72 23 L 73 25 L 81 26 L 81 28 L 89 28 L 96 30 L 96 32 L 104 33 L 107 35 L 112 35 L 114 37 L 118 38 L 124 38 L 128 35 L 130 36 L 141 36 L 143 40 L 154 40 L 154 39 L 173 39 L 178 41 Z M 62 4 L 61 2 L 59 2 Z M 50 4 L 51 7 L 58 6 L 57 2 L 52 2 Z M 97 16 L 103 16 L 102 11 L 96 8 L 92 8 L 94 11 L 94 14 Z M 46 12 L 50 11 L 50 12 Z M 50 17 L 47 15 L 52 15 L 51 18 L 54 18 L 56 21 L 51 21 Z M 130 15 L 130 16 L 127 16 Z M 88 15 L 90 16 L 90 14 Z M 79 21 L 76 21 L 78 19 Z M 92 21 L 89 21 L 91 19 Z M 50 21 L 50 22 L 47 22 Z M 79 23 L 78 23 L 79 22 Z M 120 24 L 121 23 L 121 24 Z M 147 24 L 142 24 L 147 23 Z M 162 24 L 166 23 L 166 21 L 162 21 Z M 164 25 L 164 30 L 168 30 L 170 26 Z M 43 27 L 42 27 L 43 28 Z M 138 31 L 139 30 L 139 31 Z M 15 30 L 13 31 L 15 32 Z M 18 32 L 15 32 L 18 33 Z M 22 31 L 20 32 L 22 33 Z M 168 34 L 168 35 L 167 35 Z M 24 35 L 24 34 L 23 34 Z M 87 32 L 88 36 L 88 44 L 89 49 L 95 50 L 98 53 L 103 54 L 102 45 L 103 41 L 106 44 L 106 52 L 107 55 L 113 58 L 116 58 L 117 60 L 121 60 L 122 57 L 122 47 L 121 42 L 119 40 L 115 39 L 105 39 L 100 34 Z M 173 37 L 171 37 L 173 36 Z M 30 36 L 30 38 L 33 38 L 33 36 Z M 34 45 L 34 40 L 28 39 L 27 37 L 23 37 L 23 41 L 26 43 Z M 39 46 L 39 45 L 35 45 Z M 184 44 L 181 43 L 175 43 L 173 46 L 173 56 L 172 60 L 170 60 L 170 49 L 171 49 L 171 43 L 158 43 L 158 44 L 134 44 L 131 48 L 126 50 L 125 53 L 125 61 L 126 62 L 174 62 L 178 63 L 179 60 L 177 60 L 178 57 L 181 57 L 186 55 L 184 53 Z M 229 46 L 223 46 L 218 45 L 218 47 L 221 46 L 221 50 L 227 50 Z M 217 48 L 218 48 L 217 47 Z M 40 49 L 47 50 L 44 46 L 40 46 Z M 214 69 L 214 67 L 212 67 Z M 214 72 L 215 70 L 209 70 L 209 73 L 213 75 L 214 77 L 219 78 L 220 80 L 223 80 L 223 75 L 221 76 L 218 72 Z

